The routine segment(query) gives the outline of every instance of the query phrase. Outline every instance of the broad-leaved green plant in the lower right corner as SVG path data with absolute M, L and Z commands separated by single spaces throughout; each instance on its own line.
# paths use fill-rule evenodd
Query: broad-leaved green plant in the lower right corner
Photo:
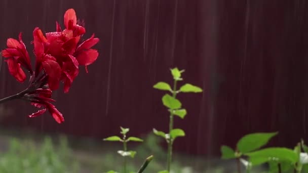
M 303 141 L 298 143 L 294 149 L 284 147 L 263 148 L 271 138 L 278 133 L 254 133 L 245 135 L 238 143 L 236 150 L 228 146 L 221 146 L 222 159 L 237 159 L 238 172 L 241 172 L 241 162 L 250 172 L 253 166 L 267 163 L 269 172 L 284 172 L 294 170 L 301 172 L 308 170 L 308 148 Z M 245 160 L 245 157 L 248 160 Z

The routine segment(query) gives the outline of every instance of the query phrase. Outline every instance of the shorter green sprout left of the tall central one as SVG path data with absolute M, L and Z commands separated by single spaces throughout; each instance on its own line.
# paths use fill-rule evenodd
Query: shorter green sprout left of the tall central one
M 119 150 L 118 153 L 122 157 L 124 157 L 123 172 L 127 173 L 128 171 L 127 171 L 127 168 L 126 168 L 126 157 L 130 156 L 130 157 L 134 158 L 136 153 L 137 153 L 136 151 L 128 151 L 127 143 L 129 141 L 143 142 L 143 140 L 140 139 L 140 138 L 137 138 L 137 137 L 129 137 L 129 138 L 127 138 L 127 133 L 129 132 L 129 128 L 123 128 L 123 127 L 120 127 L 120 128 L 121 128 L 121 132 L 120 133 L 123 136 L 122 138 L 120 138 L 118 136 L 111 136 L 111 137 L 105 138 L 104 141 L 118 141 L 118 142 L 122 142 L 123 143 L 123 150 Z

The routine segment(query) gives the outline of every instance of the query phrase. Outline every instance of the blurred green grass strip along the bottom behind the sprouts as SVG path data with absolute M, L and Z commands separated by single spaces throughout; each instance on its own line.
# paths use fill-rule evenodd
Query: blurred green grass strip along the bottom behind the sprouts
M 1 129 L 0 172 L 48 173 L 48 172 L 107 172 L 121 168 L 123 158 L 117 153 L 122 145 L 99 139 L 67 137 L 63 135 L 37 134 L 33 132 Z M 143 137 L 140 145 L 130 145 L 137 151 L 134 159 L 128 159 L 128 170 L 137 171 L 144 159 L 154 155 L 144 172 L 158 172 L 165 168 L 166 151 L 160 147 L 160 138 L 151 133 Z M 174 154 L 171 172 L 234 172 L 234 163 L 220 159 Z M 226 169 L 223 169 L 225 165 Z M 210 169 L 211 168 L 211 169 Z M 120 169 L 121 170 L 121 169 Z M 119 171 L 119 170 L 118 170 Z

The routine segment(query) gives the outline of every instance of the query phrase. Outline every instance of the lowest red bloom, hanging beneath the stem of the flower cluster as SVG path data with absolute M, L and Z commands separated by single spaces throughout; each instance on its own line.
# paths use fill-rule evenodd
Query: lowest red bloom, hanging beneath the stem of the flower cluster
M 55 102 L 55 100 L 51 99 L 51 95 L 52 91 L 49 89 L 37 89 L 25 95 L 24 97 L 30 100 L 33 106 L 37 108 L 41 108 L 42 106 L 45 107 L 45 109 L 38 110 L 37 112 L 32 113 L 31 115 L 29 115 L 29 117 L 32 118 L 42 115 L 48 110 L 58 123 L 64 122 L 64 118 L 61 112 L 59 112 L 53 104 L 49 103 Z

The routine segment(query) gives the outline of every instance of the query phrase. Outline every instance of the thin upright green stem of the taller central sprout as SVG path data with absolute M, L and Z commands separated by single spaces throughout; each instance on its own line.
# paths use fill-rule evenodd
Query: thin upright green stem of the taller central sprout
M 172 97 L 175 99 L 176 97 L 176 82 L 177 80 L 174 80 L 173 83 L 173 92 L 172 92 Z M 167 154 L 167 170 L 170 172 L 170 166 L 171 166 L 171 161 L 172 161 L 172 144 L 173 144 L 173 139 L 170 136 L 170 133 L 173 129 L 173 110 L 170 111 L 170 121 L 169 121 L 169 141 L 168 141 L 168 154 Z

